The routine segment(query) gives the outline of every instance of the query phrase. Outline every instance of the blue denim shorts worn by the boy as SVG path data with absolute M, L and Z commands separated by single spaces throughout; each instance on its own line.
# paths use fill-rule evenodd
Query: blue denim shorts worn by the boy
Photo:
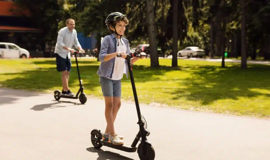
M 121 79 L 112 80 L 99 76 L 103 96 L 121 97 Z

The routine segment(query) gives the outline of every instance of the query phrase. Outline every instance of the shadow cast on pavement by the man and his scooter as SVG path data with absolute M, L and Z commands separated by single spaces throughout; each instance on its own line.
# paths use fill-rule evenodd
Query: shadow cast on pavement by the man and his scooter
M 54 100 L 55 101 L 55 100 Z M 71 105 L 57 105 L 62 103 L 69 103 Z M 41 111 L 44 109 L 52 109 L 52 108 L 58 108 L 58 107 L 68 107 L 68 106 L 75 106 L 75 105 L 81 105 L 80 103 L 70 102 L 70 101 L 55 101 L 54 103 L 48 103 L 48 104 L 38 104 L 34 107 L 30 108 L 31 110 Z

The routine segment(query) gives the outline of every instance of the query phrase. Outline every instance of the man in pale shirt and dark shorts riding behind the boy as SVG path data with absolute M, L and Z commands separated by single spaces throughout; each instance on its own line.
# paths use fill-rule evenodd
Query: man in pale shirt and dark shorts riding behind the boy
M 75 21 L 71 18 L 66 20 L 66 27 L 59 30 L 57 36 L 57 43 L 55 46 L 55 56 L 56 56 L 56 69 L 58 72 L 62 72 L 62 93 L 69 96 L 74 96 L 69 90 L 69 72 L 71 71 L 71 60 L 70 53 L 74 53 L 75 50 L 71 48 L 73 45 L 79 50 L 79 52 L 84 53 L 78 38 L 75 28 Z

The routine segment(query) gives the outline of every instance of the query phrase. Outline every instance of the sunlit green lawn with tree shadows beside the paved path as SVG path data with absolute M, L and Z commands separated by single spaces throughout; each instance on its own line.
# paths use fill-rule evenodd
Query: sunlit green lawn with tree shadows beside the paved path
M 159 59 L 159 69 L 150 68 L 150 60 L 142 59 L 133 66 L 140 103 L 165 104 L 169 107 L 213 113 L 270 118 L 270 66 L 199 60 L 178 60 L 179 68 L 171 68 L 171 59 Z M 79 59 L 79 69 L 86 94 L 102 98 L 96 74 L 100 62 Z M 0 59 L 0 84 L 5 88 L 50 92 L 61 89 L 61 75 L 55 59 Z M 76 64 L 69 87 L 79 89 Z M 123 99 L 133 101 L 130 79 L 122 79 Z

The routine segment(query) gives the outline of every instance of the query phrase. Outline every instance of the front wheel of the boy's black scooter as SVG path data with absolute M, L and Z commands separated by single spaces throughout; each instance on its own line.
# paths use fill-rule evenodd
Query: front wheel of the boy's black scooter
M 149 143 L 144 143 L 143 153 L 143 143 L 140 143 L 137 149 L 140 160 L 154 160 L 155 159 L 155 150 L 153 146 Z

